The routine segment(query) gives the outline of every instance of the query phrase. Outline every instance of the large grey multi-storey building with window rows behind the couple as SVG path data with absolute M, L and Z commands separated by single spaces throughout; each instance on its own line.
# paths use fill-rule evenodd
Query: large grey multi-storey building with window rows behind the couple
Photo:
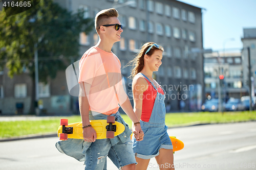
M 132 80 L 128 77 L 131 66 L 124 66 L 139 52 L 143 43 L 154 41 L 164 47 L 162 65 L 159 71 L 154 72 L 154 78 L 166 91 L 166 104 L 171 105 L 169 112 L 181 109 L 186 111 L 201 109 L 204 92 L 203 55 L 191 53 L 191 48 L 203 48 L 201 8 L 175 0 L 132 0 L 133 3 L 129 0 L 117 2 L 114 0 L 55 0 L 55 2 L 74 13 L 78 9 L 83 9 L 85 18 L 94 18 L 103 9 L 114 7 L 118 10 L 119 20 L 124 31 L 121 34 L 121 41 L 114 44 L 112 51 L 121 61 L 121 71 L 130 97 L 132 97 Z M 127 2 L 130 5 L 127 5 Z M 84 52 L 98 42 L 98 35 L 95 30 L 88 35 L 80 33 L 79 42 L 79 53 L 82 56 Z M 74 59 L 74 62 L 79 59 L 80 57 Z M 42 91 L 48 94 L 40 96 L 43 103 L 42 108 L 53 113 L 75 112 L 77 98 L 68 93 L 65 72 L 59 71 L 57 79 L 59 79 L 57 81 L 59 85 L 56 87 L 53 87 L 54 83 L 52 83 L 55 80 L 49 80 L 47 85 L 41 85 Z M 33 81 L 31 80 L 31 82 Z M 0 100 L 3 101 L 6 98 L 5 86 L 7 84 L 1 84 L 0 76 L 1 85 L 4 97 Z M 12 85 L 13 90 L 14 86 L 15 83 Z M 28 86 L 27 91 L 30 90 Z M 21 89 L 24 88 L 23 86 Z M 30 93 L 27 93 L 27 96 L 31 96 Z M 59 104 L 55 102 L 56 106 L 52 104 L 53 96 L 56 97 L 56 101 L 60 102 Z M 67 103 L 63 101 L 67 101 Z M 184 102 L 181 104 L 181 101 Z M 2 112 L 7 113 L 6 110 Z M 24 112 L 28 113 L 27 110 Z

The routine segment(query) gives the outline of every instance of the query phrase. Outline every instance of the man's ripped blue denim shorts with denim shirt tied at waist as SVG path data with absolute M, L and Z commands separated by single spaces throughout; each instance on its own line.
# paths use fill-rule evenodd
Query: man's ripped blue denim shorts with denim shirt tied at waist
M 112 139 L 97 139 L 95 142 L 84 141 L 83 139 L 68 139 L 58 141 L 56 148 L 59 152 L 74 157 L 79 161 L 84 161 L 86 170 L 106 170 L 106 156 L 120 169 L 121 167 L 137 163 L 130 139 L 131 130 L 124 122 L 119 112 L 112 114 L 116 121 L 124 125 L 125 130 Z M 106 115 L 99 114 L 93 116 L 89 112 L 90 120 L 106 119 Z

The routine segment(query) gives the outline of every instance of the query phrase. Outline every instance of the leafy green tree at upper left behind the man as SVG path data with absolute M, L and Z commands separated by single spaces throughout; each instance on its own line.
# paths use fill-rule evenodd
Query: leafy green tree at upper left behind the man
M 89 33 L 94 27 L 92 18 L 84 11 L 72 14 L 51 0 L 41 0 L 28 11 L 6 17 L 0 11 L 0 66 L 9 69 L 8 76 L 21 74 L 24 67 L 34 78 L 34 45 L 38 49 L 39 81 L 56 77 L 65 69 L 69 56 L 79 54 L 79 33 Z M 70 63 L 70 62 L 68 62 Z

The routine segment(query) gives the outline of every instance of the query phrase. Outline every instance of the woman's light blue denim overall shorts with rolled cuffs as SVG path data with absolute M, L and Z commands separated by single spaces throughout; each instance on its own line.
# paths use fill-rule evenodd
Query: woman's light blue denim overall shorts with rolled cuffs
M 145 75 L 143 75 L 141 72 L 139 72 L 138 75 L 141 75 L 147 79 L 154 89 L 157 90 L 154 83 L 152 83 Z M 157 91 L 157 96 L 149 122 L 140 120 L 141 129 L 144 132 L 143 140 L 136 141 L 134 136 L 132 138 L 133 151 L 135 156 L 138 158 L 151 159 L 158 156 L 159 150 L 162 148 L 173 149 L 172 141 L 170 141 L 169 135 L 167 134 L 168 127 L 165 125 L 164 99 L 165 91 L 164 94 Z

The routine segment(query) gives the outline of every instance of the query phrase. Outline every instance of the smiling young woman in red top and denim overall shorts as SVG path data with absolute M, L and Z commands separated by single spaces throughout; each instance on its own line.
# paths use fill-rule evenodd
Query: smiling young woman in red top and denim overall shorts
M 133 151 L 138 164 L 136 169 L 147 169 L 155 157 L 160 169 L 174 169 L 172 141 L 165 125 L 165 91 L 152 77 L 162 64 L 163 47 L 154 42 L 145 43 L 140 53 L 130 62 L 134 112 L 144 132 L 142 141 L 133 136 Z

